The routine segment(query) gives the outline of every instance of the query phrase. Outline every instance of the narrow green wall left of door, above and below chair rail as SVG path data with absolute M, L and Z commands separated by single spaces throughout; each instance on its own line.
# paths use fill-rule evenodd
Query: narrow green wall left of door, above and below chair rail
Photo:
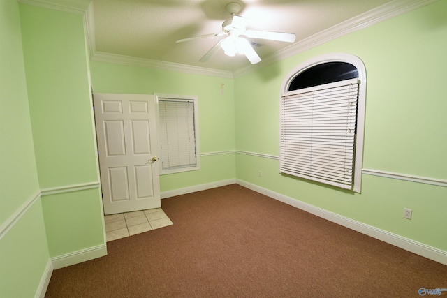
M 98 182 L 83 17 L 28 5 L 20 16 L 40 188 Z M 50 257 L 104 244 L 99 188 L 42 206 Z

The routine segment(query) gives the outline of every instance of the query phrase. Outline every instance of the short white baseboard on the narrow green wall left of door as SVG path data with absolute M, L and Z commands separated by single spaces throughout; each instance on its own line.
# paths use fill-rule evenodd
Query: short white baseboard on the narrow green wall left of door
M 98 246 L 82 249 L 80 251 L 75 251 L 73 253 L 59 255 L 57 257 L 51 258 L 51 261 L 54 269 L 60 269 L 81 262 L 100 258 L 104 255 L 107 255 L 107 246 L 106 244 L 101 244 Z

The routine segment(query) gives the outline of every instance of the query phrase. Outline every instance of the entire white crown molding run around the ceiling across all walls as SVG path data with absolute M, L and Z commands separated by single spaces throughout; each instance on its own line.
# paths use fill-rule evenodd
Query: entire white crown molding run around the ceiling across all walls
M 159 68 L 164 70 L 179 71 L 182 73 L 192 73 L 197 75 L 210 75 L 217 77 L 234 78 L 251 73 L 259 68 L 281 61 L 295 54 L 312 49 L 330 40 L 342 37 L 346 34 L 353 33 L 360 29 L 372 26 L 379 22 L 383 22 L 397 15 L 402 15 L 411 10 L 426 6 L 439 0 L 394 0 L 390 1 L 378 8 L 362 13 L 349 20 L 336 24 L 319 33 L 309 36 L 303 40 L 294 43 L 282 50 L 264 57 L 263 60 L 254 65 L 235 70 L 234 72 L 227 70 L 218 70 L 213 68 L 203 68 L 198 66 L 189 66 L 186 64 L 176 64 L 173 62 L 158 61 L 144 59 L 138 57 L 130 57 L 119 54 L 110 54 L 105 52 L 96 52 L 95 29 L 94 29 L 94 8 L 93 2 L 90 0 L 17 0 L 19 3 L 41 6 L 55 10 L 66 11 L 69 13 L 77 13 L 84 15 L 85 32 L 87 39 L 87 47 L 92 61 L 109 62 L 115 64 L 125 64 L 133 66 L 145 66 L 150 68 Z

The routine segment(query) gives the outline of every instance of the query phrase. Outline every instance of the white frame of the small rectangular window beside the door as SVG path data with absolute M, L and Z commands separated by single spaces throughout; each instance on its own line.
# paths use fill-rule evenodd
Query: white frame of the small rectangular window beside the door
M 158 131 L 158 142 L 160 146 L 160 158 L 159 158 L 159 174 L 175 174 L 180 172 L 189 172 L 189 171 L 196 171 L 200 170 L 200 141 L 199 141 L 199 131 L 198 131 L 198 97 L 197 96 L 189 96 L 189 95 L 178 95 L 178 94 L 154 94 L 155 96 L 155 105 L 156 105 L 156 126 Z M 161 148 L 161 139 L 162 139 L 162 133 L 161 133 L 161 121 L 160 121 L 160 109 L 159 109 L 159 100 L 161 99 L 167 99 L 167 100 L 189 100 L 193 101 L 193 125 L 194 125 L 194 138 L 196 142 L 196 165 L 191 167 L 178 167 L 176 169 L 170 169 L 170 170 L 163 170 L 163 149 Z

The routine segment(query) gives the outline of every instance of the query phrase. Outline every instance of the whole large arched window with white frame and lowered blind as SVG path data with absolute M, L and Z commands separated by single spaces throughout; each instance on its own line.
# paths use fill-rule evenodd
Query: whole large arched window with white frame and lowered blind
M 300 64 L 281 87 L 280 172 L 360 192 L 366 75 L 328 54 Z

